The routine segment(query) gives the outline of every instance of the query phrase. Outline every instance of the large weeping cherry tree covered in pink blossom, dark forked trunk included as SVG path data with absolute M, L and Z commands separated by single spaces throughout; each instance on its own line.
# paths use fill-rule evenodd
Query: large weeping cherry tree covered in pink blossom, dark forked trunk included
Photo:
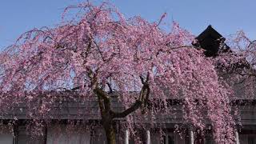
M 138 16 L 126 19 L 106 2 L 69 6 L 63 19 L 70 9 L 79 11 L 74 18 L 54 28 L 30 30 L 2 52 L 2 110 L 24 98 L 33 102 L 42 94 L 54 102 L 56 95 L 50 91 L 93 97 L 98 100 L 107 142 L 114 144 L 116 118 L 142 124 L 142 115 L 150 116 L 146 109 L 150 100 L 161 100 L 163 113 L 169 114 L 166 99 L 179 98 L 186 122 L 203 130 L 209 119 L 216 142 L 234 142 L 228 90 L 218 80 L 210 58 L 190 46 L 194 37 L 189 32 L 175 22 L 170 33 L 161 30 L 165 14 L 159 22 Z M 111 93 L 118 95 L 126 110 L 113 110 Z M 31 110 L 34 120 L 49 112 L 44 102 Z M 136 118 L 129 118 L 130 114 Z

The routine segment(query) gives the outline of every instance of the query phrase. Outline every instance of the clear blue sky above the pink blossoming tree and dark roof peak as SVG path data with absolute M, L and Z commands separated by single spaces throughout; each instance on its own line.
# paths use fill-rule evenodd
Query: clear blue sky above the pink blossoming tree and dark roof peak
M 126 18 L 140 15 L 150 22 L 167 13 L 166 27 L 173 21 L 198 35 L 212 25 L 224 37 L 243 30 L 256 39 L 255 0 L 108 0 Z M 1 0 L 0 51 L 12 44 L 27 30 L 42 26 L 56 26 L 66 6 L 82 0 Z M 91 0 L 95 4 L 101 0 Z M 170 26 L 171 27 L 171 26 Z

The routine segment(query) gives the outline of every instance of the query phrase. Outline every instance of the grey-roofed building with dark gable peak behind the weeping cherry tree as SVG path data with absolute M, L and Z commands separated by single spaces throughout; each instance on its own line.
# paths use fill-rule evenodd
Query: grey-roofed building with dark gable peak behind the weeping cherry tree
M 205 49 L 207 57 L 218 57 L 218 53 L 232 53 L 230 47 L 225 43 L 225 38 L 218 34 L 212 26 L 199 34 L 194 46 Z M 241 83 L 234 87 L 235 96 L 231 98 L 230 104 L 238 107 L 241 119 L 238 122 L 235 134 L 236 144 L 255 144 L 256 143 L 256 97 L 246 98 L 246 87 Z M 156 114 L 155 128 L 141 131 L 141 138 L 146 144 L 214 144 L 211 137 L 212 131 L 206 130 L 202 135 L 189 123 L 184 122 L 181 111 L 181 99 L 171 99 L 170 105 L 175 107 L 173 115 L 166 115 L 164 118 L 158 118 Z M 116 98 L 112 98 L 115 110 L 124 109 L 122 103 Z M 50 125 L 42 127 L 42 136 L 31 138 L 26 133 L 26 124 L 30 121 L 26 111 L 29 109 L 26 103 L 18 107 L 13 107 L 8 113 L 2 113 L 2 125 L 0 134 L 0 144 L 104 144 L 106 138 L 104 130 L 99 122 L 98 102 L 92 101 L 73 101 L 69 98 L 56 102 L 56 105 L 50 110 L 52 122 Z M 90 111 L 88 111 L 90 110 Z M 7 125 L 13 119 L 18 119 L 13 125 Z M 69 126 L 74 122 L 74 126 Z M 124 119 L 117 119 L 116 129 L 118 131 L 119 122 L 125 122 Z M 145 123 L 146 123 L 145 118 Z M 241 122 L 241 123 L 239 123 Z M 94 124 L 92 126 L 92 124 Z M 242 125 L 241 125 L 242 124 Z M 158 126 L 165 126 L 162 133 Z M 31 129 L 33 130 L 33 129 Z M 175 131 L 175 132 L 174 132 Z M 134 139 L 129 135 L 128 130 L 117 133 L 119 144 L 128 142 L 134 143 Z

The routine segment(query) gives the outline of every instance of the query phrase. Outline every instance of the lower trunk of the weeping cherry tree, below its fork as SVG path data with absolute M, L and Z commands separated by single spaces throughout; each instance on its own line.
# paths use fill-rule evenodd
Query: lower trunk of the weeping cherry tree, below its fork
M 103 127 L 104 127 L 105 133 L 106 133 L 107 144 L 116 144 L 115 130 L 114 130 L 113 122 L 111 120 L 105 121 L 105 122 L 103 122 Z

